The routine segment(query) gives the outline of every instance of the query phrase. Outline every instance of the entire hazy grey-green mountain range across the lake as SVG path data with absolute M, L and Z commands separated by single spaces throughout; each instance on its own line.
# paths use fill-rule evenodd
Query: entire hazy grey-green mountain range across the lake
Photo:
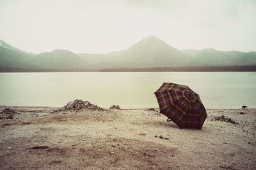
M 75 54 L 53 50 L 33 54 L 0 40 L 0 71 L 22 70 L 86 71 L 120 68 L 163 68 L 197 66 L 255 66 L 256 52 L 220 51 L 214 49 L 178 50 L 168 43 L 148 36 L 126 50 L 109 54 Z M 155 69 L 156 70 L 156 69 Z M 157 71 L 157 70 L 156 70 Z

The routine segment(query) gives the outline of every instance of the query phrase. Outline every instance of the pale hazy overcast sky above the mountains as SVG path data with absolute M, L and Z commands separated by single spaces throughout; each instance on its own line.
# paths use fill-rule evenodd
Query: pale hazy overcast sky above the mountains
M 154 35 L 177 49 L 256 51 L 256 0 L 0 0 L 0 39 L 105 53 Z

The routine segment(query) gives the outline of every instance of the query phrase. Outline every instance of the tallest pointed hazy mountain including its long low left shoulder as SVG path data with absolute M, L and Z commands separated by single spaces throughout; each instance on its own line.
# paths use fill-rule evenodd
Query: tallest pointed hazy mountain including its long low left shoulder
M 173 48 L 156 36 L 148 36 L 129 49 L 104 55 L 80 54 L 96 68 L 141 68 L 155 66 L 186 66 L 192 61 L 188 54 Z

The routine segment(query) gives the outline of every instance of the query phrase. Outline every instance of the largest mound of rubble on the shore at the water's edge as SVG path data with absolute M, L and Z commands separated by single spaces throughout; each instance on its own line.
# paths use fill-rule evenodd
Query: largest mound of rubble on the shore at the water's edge
M 68 102 L 67 105 L 61 107 L 57 111 L 79 111 L 81 109 L 88 109 L 90 111 L 105 111 L 105 109 L 98 107 L 97 105 L 91 104 L 88 101 L 78 99 Z

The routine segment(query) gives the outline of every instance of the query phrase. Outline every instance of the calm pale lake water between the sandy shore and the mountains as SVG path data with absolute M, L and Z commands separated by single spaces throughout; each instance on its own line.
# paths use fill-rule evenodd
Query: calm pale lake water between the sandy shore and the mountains
M 0 73 L 0 105 L 63 106 L 75 99 L 100 107 L 158 107 L 163 82 L 186 84 L 207 109 L 256 107 L 255 72 Z

